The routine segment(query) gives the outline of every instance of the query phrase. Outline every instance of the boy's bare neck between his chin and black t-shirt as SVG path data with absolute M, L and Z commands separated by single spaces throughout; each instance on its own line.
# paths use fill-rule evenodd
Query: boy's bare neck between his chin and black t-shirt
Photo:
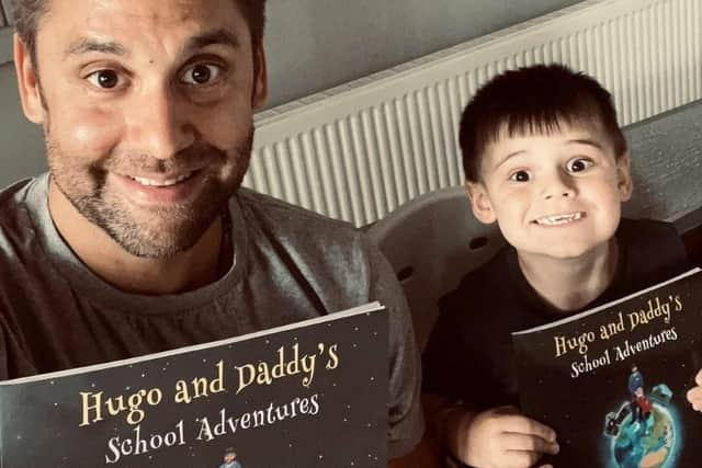
M 577 259 L 553 259 L 518 251 L 519 267 L 536 293 L 567 313 L 597 299 L 612 284 L 616 272 L 616 239 Z

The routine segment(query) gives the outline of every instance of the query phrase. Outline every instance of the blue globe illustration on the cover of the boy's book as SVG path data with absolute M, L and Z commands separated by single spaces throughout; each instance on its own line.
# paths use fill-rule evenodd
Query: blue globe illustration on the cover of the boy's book
M 622 424 L 614 442 L 614 459 L 621 468 L 661 468 L 670 457 L 676 437 L 670 414 L 654 404 L 646 421 Z

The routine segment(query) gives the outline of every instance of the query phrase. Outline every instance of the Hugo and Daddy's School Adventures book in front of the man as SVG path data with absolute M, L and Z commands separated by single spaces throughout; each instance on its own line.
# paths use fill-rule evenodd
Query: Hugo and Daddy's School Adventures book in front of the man
M 378 303 L 0 383 L 0 467 L 385 467 Z

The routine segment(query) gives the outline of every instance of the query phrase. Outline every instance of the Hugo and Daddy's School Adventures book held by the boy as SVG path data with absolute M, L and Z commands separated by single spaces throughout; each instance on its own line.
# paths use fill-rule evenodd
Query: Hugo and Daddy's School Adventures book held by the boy
M 702 464 L 702 271 L 512 333 L 522 411 L 553 427 L 556 467 Z

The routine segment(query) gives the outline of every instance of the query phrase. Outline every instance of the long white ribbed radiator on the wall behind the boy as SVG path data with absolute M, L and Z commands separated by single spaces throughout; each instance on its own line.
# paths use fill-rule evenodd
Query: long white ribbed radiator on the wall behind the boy
M 702 0 L 589 0 L 257 115 L 245 185 L 356 226 L 463 183 L 457 126 L 506 69 L 564 62 L 621 125 L 702 98 Z

